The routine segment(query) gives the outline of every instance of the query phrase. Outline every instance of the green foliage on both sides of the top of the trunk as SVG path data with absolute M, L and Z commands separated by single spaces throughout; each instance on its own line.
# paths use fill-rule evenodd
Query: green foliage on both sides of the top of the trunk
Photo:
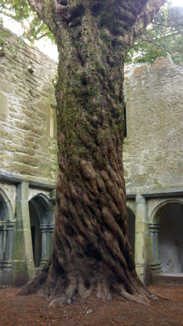
M 39 19 L 26 0 L 0 0 L 0 19 L 4 15 L 18 21 L 22 26 L 22 37 L 31 44 L 42 37 L 54 42 L 53 34 Z M 183 63 L 183 7 L 172 7 L 171 0 L 161 8 L 153 22 L 138 37 L 129 51 L 127 63 L 153 63 L 160 57 L 171 57 L 177 65 Z

